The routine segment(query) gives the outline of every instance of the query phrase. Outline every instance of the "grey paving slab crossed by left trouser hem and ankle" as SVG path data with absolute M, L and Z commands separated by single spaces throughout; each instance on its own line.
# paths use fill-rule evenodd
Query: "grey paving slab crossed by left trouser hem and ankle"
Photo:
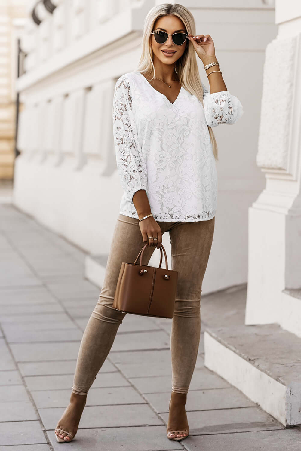
M 32 391 L 31 394 L 38 408 L 66 407 L 69 404 L 70 389 Z M 145 403 L 146 401 L 133 387 L 92 387 L 88 392 L 86 406 Z

